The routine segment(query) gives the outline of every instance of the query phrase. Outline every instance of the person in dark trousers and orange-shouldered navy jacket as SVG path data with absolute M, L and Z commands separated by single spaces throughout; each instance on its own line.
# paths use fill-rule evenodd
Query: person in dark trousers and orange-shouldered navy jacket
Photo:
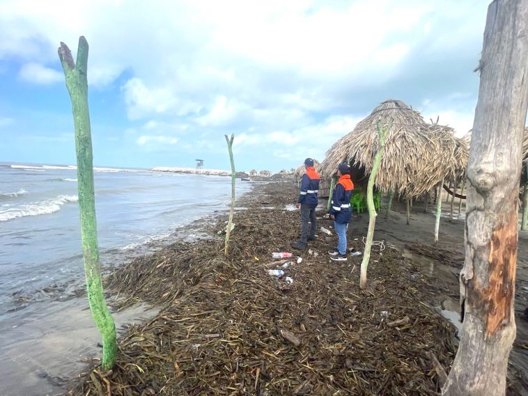
M 295 249 L 304 250 L 308 241 L 316 240 L 316 207 L 318 204 L 317 193 L 319 192 L 320 176 L 316 168 L 313 167 L 313 159 L 304 160 L 306 172 L 302 175 L 301 192 L 295 206 L 301 208 L 301 239 L 293 242 L 291 246 Z M 311 223 L 311 227 L 308 225 Z

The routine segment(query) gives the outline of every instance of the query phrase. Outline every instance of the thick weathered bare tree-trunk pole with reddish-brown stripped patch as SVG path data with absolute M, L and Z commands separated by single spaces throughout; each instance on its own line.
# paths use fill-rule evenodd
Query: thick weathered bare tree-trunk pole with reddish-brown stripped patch
M 528 107 L 528 0 L 488 7 L 467 164 L 460 345 L 442 395 L 502 396 L 515 339 L 522 138 Z

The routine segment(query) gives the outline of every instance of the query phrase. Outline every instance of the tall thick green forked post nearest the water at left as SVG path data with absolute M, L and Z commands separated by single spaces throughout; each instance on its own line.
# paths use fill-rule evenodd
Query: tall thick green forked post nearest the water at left
M 66 88 L 70 93 L 75 125 L 75 151 L 77 152 L 77 186 L 79 189 L 79 214 L 81 217 L 81 242 L 84 258 L 84 275 L 88 303 L 93 320 L 102 336 L 102 369 L 109 370 L 116 363 L 116 326 L 107 303 L 101 281 L 101 262 L 95 219 L 95 193 L 93 188 L 93 152 L 88 112 L 88 42 L 79 38 L 77 62 L 67 45 L 61 42 L 59 58 L 66 77 Z

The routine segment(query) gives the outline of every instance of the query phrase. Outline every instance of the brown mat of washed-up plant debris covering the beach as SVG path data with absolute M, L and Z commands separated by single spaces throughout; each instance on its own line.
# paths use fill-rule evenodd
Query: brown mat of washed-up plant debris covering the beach
M 362 257 L 329 260 L 336 235 L 323 232 L 285 276 L 270 276 L 271 253 L 291 251 L 299 234 L 299 213 L 285 209 L 295 194 L 284 182 L 255 187 L 227 257 L 217 236 L 114 269 L 105 283 L 119 308 L 162 309 L 127 328 L 113 370 L 94 364 L 69 395 L 437 395 L 456 340 L 430 303 L 447 289 L 373 248 L 360 290 Z M 362 251 L 357 237 L 349 247 Z

